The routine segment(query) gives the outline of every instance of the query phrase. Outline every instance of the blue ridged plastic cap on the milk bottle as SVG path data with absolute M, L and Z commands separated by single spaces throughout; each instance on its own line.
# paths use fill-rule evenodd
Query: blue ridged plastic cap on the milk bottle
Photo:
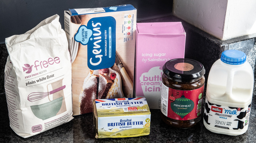
M 230 65 L 241 65 L 246 61 L 246 55 L 238 50 L 226 50 L 221 54 L 221 61 Z

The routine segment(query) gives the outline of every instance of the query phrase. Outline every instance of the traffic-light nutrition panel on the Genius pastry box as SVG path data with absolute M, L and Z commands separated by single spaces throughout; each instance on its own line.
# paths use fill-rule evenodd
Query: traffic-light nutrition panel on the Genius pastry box
M 133 40 L 134 14 L 125 14 L 122 24 L 123 42 Z

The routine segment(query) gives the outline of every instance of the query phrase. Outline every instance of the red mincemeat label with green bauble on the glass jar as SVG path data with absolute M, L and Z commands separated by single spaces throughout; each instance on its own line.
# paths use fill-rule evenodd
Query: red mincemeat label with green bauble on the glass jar
M 161 112 L 176 120 L 195 119 L 201 115 L 204 86 L 194 90 L 176 90 L 162 84 Z

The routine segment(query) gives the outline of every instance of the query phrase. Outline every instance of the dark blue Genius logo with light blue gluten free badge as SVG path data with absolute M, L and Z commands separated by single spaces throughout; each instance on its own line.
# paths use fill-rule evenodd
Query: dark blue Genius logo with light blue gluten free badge
M 116 60 L 116 20 L 95 17 L 81 25 L 75 41 L 87 45 L 87 65 L 91 70 L 110 68 Z

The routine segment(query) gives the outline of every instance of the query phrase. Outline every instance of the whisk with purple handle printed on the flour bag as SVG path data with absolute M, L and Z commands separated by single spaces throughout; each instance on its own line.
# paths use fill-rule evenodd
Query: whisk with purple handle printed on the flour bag
M 28 96 L 28 101 L 34 102 L 34 101 L 37 101 L 37 100 L 41 100 L 41 99 L 45 98 L 48 95 L 51 95 L 51 94 L 53 94 L 55 92 L 58 92 L 58 91 L 64 89 L 65 87 L 66 86 L 64 85 L 64 86 L 59 87 L 57 89 L 54 89 L 54 90 L 52 90 L 50 92 L 32 92 Z

